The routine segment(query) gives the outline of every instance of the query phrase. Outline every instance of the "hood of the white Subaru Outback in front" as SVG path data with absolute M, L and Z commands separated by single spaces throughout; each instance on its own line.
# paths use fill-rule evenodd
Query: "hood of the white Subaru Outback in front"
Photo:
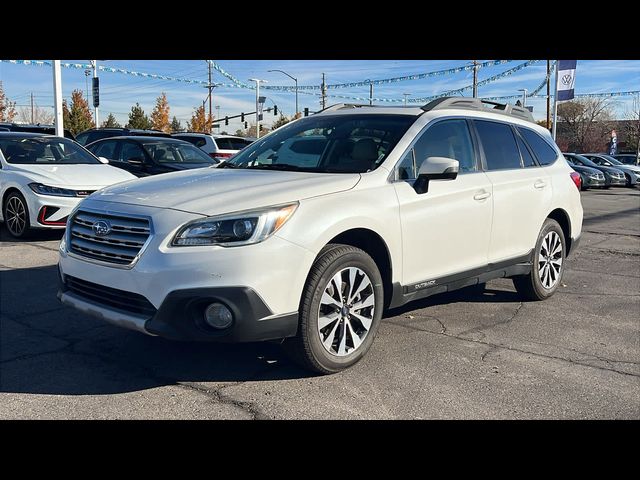
M 349 190 L 359 180 L 357 173 L 205 168 L 114 185 L 91 199 L 215 215 Z

